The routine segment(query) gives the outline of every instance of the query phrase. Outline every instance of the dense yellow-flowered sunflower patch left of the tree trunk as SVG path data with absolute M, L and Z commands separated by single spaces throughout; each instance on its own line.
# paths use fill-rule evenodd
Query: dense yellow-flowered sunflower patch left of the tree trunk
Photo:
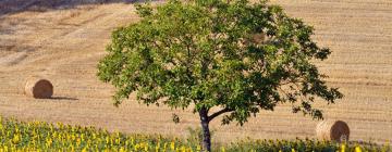
M 0 117 L 0 151 L 192 151 L 180 139 Z

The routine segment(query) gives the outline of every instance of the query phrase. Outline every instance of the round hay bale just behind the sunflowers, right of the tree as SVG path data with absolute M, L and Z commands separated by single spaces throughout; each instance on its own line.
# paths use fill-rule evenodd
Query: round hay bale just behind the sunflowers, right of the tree
M 317 125 L 316 136 L 320 140 L 348 141 L 350 128 L 343 121 L 323 121 Z

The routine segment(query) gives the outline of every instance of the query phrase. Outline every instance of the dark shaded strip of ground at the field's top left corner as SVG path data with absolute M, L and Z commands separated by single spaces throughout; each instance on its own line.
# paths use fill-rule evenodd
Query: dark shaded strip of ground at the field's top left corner
M 46 12 L 73 9 L 85 4 L 135 3 L 144 1 L 145 0 L 0 0 L 0 17 L 24 11 Z

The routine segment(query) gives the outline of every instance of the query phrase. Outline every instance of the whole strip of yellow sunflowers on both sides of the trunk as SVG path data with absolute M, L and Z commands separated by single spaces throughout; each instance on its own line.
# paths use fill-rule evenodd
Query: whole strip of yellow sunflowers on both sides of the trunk
M 14 151 L 105 151 L 105 152 L 198 152 L 197 140 L 168 138 L 160 135 L 126 135 L 95 127 L 61 123 L 20 122 L 0 117 L 0 152 Z M 389 145 L 335 143 L 316 140 L 243 140 L 219 145 L 216 151 L 252 152 L 391 152 Z

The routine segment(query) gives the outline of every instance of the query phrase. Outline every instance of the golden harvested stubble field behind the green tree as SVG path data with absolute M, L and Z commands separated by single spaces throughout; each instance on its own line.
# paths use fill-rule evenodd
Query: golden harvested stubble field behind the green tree
M 26 1 L 26 0 L 25 0 Z M 139 105 L 134 98 L 114 107 L 113 89 L 96 77 L 98 60 L 111 30 L 137 21 L 132 3 L 0 1 L 0 115 L 24 121 L 94 125 L 125 132 L 185 136 L 198 127 L 191 111 Z M 14 3 L 13 3 L 14 2 Z M 328 83 L 345 98 L 336 104 L 318 103 L 327 119 L 350 126 L 351 140 L 392 140 L 392 1 L 391 0 L 273 0 L 286 12 L 316 28 L 320 46 L 333 51 L 318 63 Z M 51 80 L 52 99 L 24 94 L 25 79 Z M 217 141 L 237 138 L 315 138 L 319 122 L 292 114 L 291 106 L 262 112 L 244 127 L 212 122 Z

